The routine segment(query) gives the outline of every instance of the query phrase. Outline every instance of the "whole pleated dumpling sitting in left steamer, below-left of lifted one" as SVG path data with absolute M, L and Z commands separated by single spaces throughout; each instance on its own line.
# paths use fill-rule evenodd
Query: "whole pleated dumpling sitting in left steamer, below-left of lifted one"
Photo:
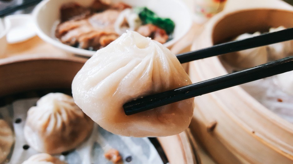
M 92 127 L 92 120 L 71 96 L 49 93 L 28 110 L 24 136 L 37 151 L 56 154 L 82 143 Z

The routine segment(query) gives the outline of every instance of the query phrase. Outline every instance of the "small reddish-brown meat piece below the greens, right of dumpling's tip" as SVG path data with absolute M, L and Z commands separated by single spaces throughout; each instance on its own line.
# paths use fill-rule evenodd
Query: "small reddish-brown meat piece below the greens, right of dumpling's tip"
M 137 29 L 137 32 L 140 33 L 142 36 L 150 37 L 151 39 L 156 40 L 161 44 L 166 43 L 169 38 L 165 30 L 153 24 L 140 26 Z

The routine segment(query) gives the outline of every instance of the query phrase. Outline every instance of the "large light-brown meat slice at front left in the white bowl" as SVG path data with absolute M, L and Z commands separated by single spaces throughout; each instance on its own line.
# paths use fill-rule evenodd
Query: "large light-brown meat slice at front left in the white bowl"
M 119 13 L 120 11 L 109 9 L 87 19 L 62 22 L 57 26 L 55 36 L 66 45 L 89 50 L 100 49 L 118 38 L 114 22 Z

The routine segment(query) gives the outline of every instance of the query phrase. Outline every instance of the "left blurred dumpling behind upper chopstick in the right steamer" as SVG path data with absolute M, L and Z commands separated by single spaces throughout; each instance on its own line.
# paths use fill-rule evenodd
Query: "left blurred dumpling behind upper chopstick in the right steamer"
M 236 37 L 234 40 L 243 40 L 254 36 L 261 35 L 260 32 L 253 34 L 242 34 Z M 264 63 L 267 63 L 267 50 L 266 46 L 256 47 L 252 49 L 245 49 L 242 51 L 232 52 L 223 55 L 223 59 L 234 67 L 238 68 L 251 68 Z

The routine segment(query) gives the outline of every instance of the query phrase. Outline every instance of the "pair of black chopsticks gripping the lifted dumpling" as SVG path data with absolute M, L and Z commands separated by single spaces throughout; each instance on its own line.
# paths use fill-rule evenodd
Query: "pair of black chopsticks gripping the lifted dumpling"
M 244 49 L 270 45 L 293 39 L 293 28 L 251 37 L 244 40 L 231 41 L 209 48 L 191 51 L 177 55 L 180 63 L 186 63 L 197 59 L 226 54 Z M 243 83 L 259 80 L 280 73 L 293 70 L 293 56 L 262 64 L 239 72 L 215 77 L 202 82 L 197 82 L 184 87 L 164 91 L 150 96 L 145 96 L 123 105 L 126 115 L 136 114 L 159 106 L 171 104 L 177 101 L 201 96 L 206 93 L 233 87 Z

